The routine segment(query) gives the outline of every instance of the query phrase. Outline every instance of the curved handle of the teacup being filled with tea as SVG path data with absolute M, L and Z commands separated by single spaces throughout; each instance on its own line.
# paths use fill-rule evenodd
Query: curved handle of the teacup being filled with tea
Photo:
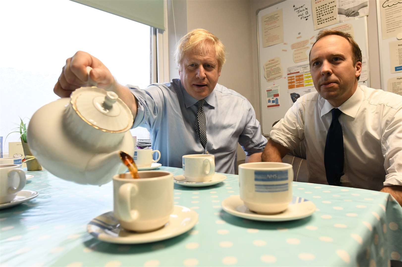
M 138 211 L 131 210 L 131 196 L 138 193 L 137 185 L 125 183 L 119 188 L 119 217 L 125 222 L 133 222 L 138 218 Z

